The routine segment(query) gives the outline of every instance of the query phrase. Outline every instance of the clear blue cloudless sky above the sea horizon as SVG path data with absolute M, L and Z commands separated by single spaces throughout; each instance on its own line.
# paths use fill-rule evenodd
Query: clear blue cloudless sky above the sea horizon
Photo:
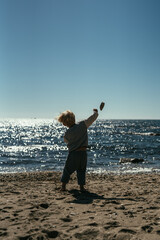
M 0 0 L 0 118 L 160 119 L 159 0 Z

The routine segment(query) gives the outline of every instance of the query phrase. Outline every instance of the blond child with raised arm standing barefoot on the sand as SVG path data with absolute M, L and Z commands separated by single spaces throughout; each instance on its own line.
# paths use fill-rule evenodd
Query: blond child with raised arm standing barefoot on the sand
M 64 135 L 64 141 L 67 143 L 69 154 L 61 178 L 62 191 L 66 190 L 66 184 L 69 182 L 70 175 L 74 171 L 77 172 L 80 191 L 85 191 L 84 185 L 87 166 L 86 149 L 88 146 L 87 128 L 97 119 L 97 117 L 97 109 L 93 109 L 93 115 L 79 123 L 75 123 L 75 115 L 71 111 L 63 112 L 58 117 L 58 121 L 68 127 Z

